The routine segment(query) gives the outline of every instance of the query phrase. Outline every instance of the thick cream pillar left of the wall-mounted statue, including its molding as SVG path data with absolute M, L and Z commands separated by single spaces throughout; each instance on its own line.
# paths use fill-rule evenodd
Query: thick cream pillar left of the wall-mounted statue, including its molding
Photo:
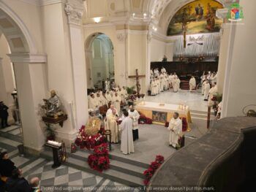
M 46 55 L 9 54 L 14 64 L 24 147 L 38 153 L 45 144 L 45 124 L 39 114 L 39 104 L 47 94 Z

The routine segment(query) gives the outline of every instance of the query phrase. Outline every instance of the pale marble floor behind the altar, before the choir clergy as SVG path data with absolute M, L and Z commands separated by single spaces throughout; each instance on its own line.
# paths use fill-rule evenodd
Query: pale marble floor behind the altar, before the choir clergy
M 199 92 L 181 90 L 177 93 L 164 91 L 157 96 L 146 96 L 146 101 L 161 102 L 166 104 L 186 104 L 190 110 L 207 112 L 207 101 L 203 101 L 203 96 Z

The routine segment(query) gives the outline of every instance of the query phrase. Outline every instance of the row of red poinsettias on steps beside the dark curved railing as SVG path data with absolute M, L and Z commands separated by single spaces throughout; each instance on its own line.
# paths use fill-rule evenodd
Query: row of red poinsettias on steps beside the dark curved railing
M 143 172 L 146 179 L 143 181 L 144 185 L 148 185 L 149 181 L 151 180 L 151 177 L 153 177 L 154 173 L 157 171 L 159 166 L 165 161 L 165 158 L 162 155 L 157 155 L 155 161 L 151 162 L 148 169 L 146 169 L 145 172 Z

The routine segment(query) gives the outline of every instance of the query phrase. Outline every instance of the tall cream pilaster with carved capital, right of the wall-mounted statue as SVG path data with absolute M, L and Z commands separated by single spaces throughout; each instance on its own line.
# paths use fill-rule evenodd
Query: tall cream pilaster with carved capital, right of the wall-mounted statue
M 78 130 L 88 120 L 86 61 L 82 28 L 83 0 L 68 0 L 65 12 L 68 19 L 75 93 L 75 127 Z

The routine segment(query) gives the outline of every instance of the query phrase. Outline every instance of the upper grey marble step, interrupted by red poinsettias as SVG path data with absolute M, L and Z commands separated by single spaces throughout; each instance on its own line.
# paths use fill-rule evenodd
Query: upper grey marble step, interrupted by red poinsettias
M 78 150 L 76 153 L 70 153 L 69 157 L 77 158 L 81 161 L 87 161 L 89 155 L 90 153 Z M 110 169 L 114 169 L 118 172 L 131 174 L 142 179 L 144 178 L 143 172 L 146 170 L 146 168 L 140 167 L 138 165 L 127 164 L 123 161 L 117 161 L 113 158 L 110 158 Z

